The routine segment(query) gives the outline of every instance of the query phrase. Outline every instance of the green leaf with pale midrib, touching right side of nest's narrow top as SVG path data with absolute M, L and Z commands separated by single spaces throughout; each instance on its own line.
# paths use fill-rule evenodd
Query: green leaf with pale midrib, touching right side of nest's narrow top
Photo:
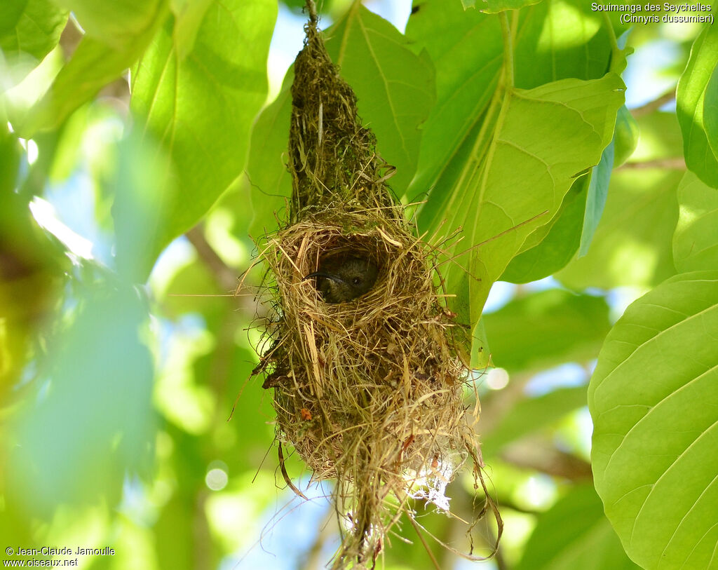
M 436 98 L 434 67 L 415 55 L 403 34 L 355 2 L 331 30 L 327 51 L 358 98 L 377 149 L 396 167 L 390 184 L 403 195 L 416 171 L 421 131 Z

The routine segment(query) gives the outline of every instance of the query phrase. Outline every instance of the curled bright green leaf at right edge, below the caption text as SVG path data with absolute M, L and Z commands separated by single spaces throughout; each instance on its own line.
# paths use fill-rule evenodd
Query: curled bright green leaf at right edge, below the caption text
M 691 57 L 676 91 L 676 113 L 684 139 L 686 165 L 710 187 L 718 188 L 718 159 L 712 151 L 704 124 L 704 100 L 708 96 L 709 123 L 714 127 L 714 84 L 709 80 L 718 65 L 718 28 L 706 25 L 696 38 Z M 712 130 L 711 137 L 717 136 Z

